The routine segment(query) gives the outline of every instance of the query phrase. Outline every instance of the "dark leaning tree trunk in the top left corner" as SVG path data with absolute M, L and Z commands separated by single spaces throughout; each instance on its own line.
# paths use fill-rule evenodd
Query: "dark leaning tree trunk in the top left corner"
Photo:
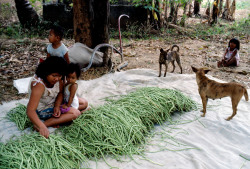
M 26 28 L 36 27 L 39 23 L 39 16 L 27 0 L 15 0 L 17 16 Z

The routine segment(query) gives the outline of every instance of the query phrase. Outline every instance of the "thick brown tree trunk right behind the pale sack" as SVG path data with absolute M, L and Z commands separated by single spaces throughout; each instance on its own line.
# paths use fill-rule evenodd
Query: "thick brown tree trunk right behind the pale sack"
M 98 44 L 109 43 L 110 14 L 108 0 L 73 0 L 75 42 L 95 48 Z M 108 63 L 108 48 L 104 53 L 103 64 Z

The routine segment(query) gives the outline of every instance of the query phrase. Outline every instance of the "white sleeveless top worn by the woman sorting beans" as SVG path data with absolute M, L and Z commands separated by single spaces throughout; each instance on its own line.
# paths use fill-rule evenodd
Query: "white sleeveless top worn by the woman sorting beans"
M 29 84 L 29 88 L 28 88 L 29 97 L 31 95 L 31 83 L 32 82 L 35 82 L 35 83 L 33 83 L 33 86 L 36 86 L 38 83 L 41 83 L 45 87 L 43 95 L 40 98 L 37 110 L 42 111 L 42 110 L 45 110 L 47 108 L 53 108 L 54 104 L 55 104 L 56 97 L 57 97 L 58 93 L 60 92 L 59 82 L 57 82 L 52 88 L 48 88 L 45 86 L 45 84 L 43 83 L 43 81 L 40 77 L 37 77 L 36 75 L 34 75 L 30 80 L 30 84 Z

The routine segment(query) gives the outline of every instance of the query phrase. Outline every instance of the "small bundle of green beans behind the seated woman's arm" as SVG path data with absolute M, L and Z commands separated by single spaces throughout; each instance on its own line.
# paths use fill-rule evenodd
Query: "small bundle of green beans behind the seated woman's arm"
M 26 115 L 27 107 L 23 104 L 18 104 L 15 108 L 7 113 L 7 119 L 16 123 L 19 130 L 24 130 L 32 126 L 32 123 Z

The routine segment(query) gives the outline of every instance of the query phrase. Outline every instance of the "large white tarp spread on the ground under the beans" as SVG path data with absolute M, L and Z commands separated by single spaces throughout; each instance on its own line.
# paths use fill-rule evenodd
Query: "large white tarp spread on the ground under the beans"
M 93 107 L 104 104 L 103 98 L 107 96 L 127 94 L 137 87 L 157 86 L 180 90 L 201 104 L 195 74 L 168 73 L 167 77 L 160 78 L 157 75 L 158 71 L 155 70 L 134 69 L 107 74 L 90 81 L 80 80 L 77 94 L 86 98 Z M 212 78 L 209 75 L 208 77 Z M 250 94 L 249 89 L 248 93 Z M 27 101 L 23 99 L 0 105 L 0 117 L 4 117 L 8 110 L 15 107 L 15 103 L 26 104 Z M 123 169 L 249 169 L 250 161 L 241 157 L 250 159 L 249 110 L 250 102 L 246 102 L 243 97 L 238 105 L 238 114 L 231 121 L 226 121 L 225 118 L 232 113 L 230 98 L 209 100 L 206 117 L 200 117 L 201 113 L 198 110 L 173 115 L 173 120 L 199 118 L 194 122 L 178 125 L 180 130 L 171 129 L 171 135 L 176 136 L 179 142 L 196 149 L 177 152 L 164 150 L 152 153 L 159 148 L 148 145 L 145 156 L 153 162 L 142 160 L 140 156 L 134 156 L 135 161 L 124 158 L 126 162 L 119 162 L 109 157 L 106 160 L 109 165 Z M 157 125 L 152 132 L 169 130 L 167 126 Z M 2 140 L 5 141 L 14 134 L 20 134 L 15 124 L 1 119 Z M 155 136 L 149 143 L 162 144 L 158 140 L 160 140 L 159 136 Z M 99 160 L 97 163 L 90 161 L 89 164 L 90 168 L 110 168 L 104 160 Z

